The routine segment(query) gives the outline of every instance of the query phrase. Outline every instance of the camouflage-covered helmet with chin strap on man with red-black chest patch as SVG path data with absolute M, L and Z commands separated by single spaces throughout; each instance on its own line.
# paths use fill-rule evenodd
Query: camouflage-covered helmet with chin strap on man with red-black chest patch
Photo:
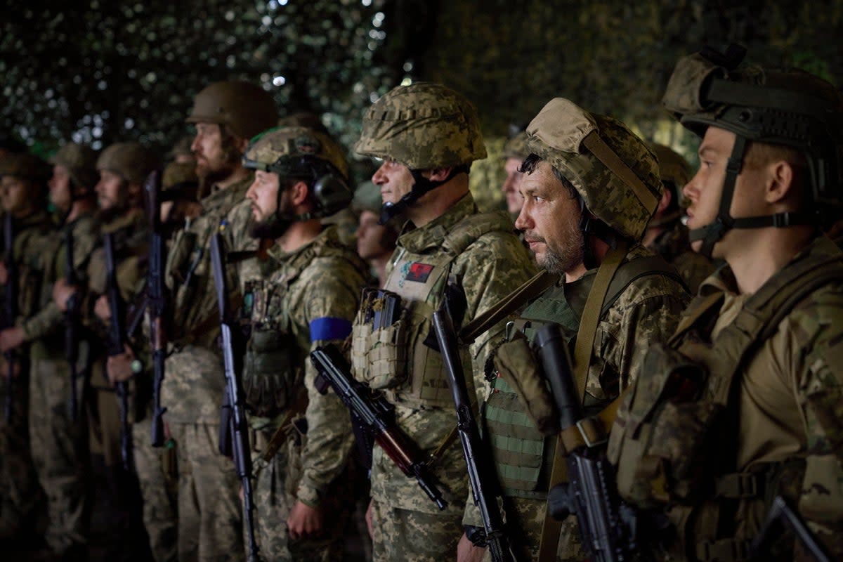
M 437 83 L 419 82 L 389 90 L 363 115 L 358 154 L 404 164 L 416 180 L 410 193 L 384 205 L 386 222 L 421 195 L 468 173 L 471 163 L 486 158 L 486 145 L 474 105 L 462 94 Z M 431 181 L 421 171 L 453 167 L 448 178 Z

